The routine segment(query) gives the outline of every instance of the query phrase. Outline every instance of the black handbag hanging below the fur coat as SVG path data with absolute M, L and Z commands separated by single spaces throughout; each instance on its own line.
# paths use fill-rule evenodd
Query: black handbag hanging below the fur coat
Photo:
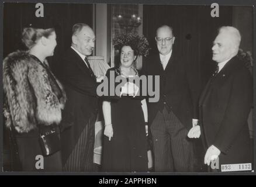
M 60 136 L 56 127 L 51 126 L 49 130 L 47 126 L 40 126 L 40 145 L 44 156 L 52 155 L 61 149 Z

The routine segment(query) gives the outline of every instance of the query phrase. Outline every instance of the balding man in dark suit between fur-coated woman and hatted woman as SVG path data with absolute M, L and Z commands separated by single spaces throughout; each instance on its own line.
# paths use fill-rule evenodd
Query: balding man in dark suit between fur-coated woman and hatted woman
M 84 23 L 72 27 L 71 48 L 63 54 L 60 79 L 67 93 L 61 122 L 64 171 L 93 171 L 97 82 L 88 63 L 95 45 L 93 30 Z

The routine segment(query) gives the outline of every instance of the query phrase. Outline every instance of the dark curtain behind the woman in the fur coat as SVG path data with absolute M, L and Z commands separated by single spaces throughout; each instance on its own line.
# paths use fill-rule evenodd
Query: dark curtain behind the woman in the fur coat
M 72 25 L 87 23 L 92 27 L 92 4 L 50 4 L 44 5 L 44 20 L 51 20 L 57 34 L 57 47 L 54 56 L 49 57 L 53 72 L 58 71 L 61 62 L 58 60 L 65 49 L 71 46 Z M 25 49 L 21 42 L 23 27 L 34 22 L 36 3 L 5 3 L 4 4 L 4 54 L 17 49 Z M 40 19 L 40 18 L 37 18 Z

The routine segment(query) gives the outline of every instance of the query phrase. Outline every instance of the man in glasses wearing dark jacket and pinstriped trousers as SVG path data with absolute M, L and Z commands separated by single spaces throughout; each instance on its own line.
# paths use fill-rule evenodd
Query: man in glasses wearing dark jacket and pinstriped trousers
M 155 41 L 159 53 L 143 64 L 146 75 L 160 76 L 160 99 L 148 103 L 155 171 L 192 171 L 193 150 L 187 135 L 198 121 L 198 82 L 192 81 L 184 58 L 172 48 L 171 27 L 159 27 Z

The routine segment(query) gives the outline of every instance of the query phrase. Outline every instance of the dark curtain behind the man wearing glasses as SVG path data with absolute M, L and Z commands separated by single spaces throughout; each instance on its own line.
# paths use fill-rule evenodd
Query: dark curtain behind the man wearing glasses
M 157 53 L 155 30 L 161 25 L 174 29 L 175 47 L 188 60 L 189 70 L 203 87 L 214 67 L 212 43 L 220 26 L 232 25 L 232 7 L 220 6 L 219 18 L 212 18 L 212 8 L 195 5 L 144 5 L 143 34 L 150 43 L 150 53 Z M 146 62 L 144 62 L 146 63 Z

